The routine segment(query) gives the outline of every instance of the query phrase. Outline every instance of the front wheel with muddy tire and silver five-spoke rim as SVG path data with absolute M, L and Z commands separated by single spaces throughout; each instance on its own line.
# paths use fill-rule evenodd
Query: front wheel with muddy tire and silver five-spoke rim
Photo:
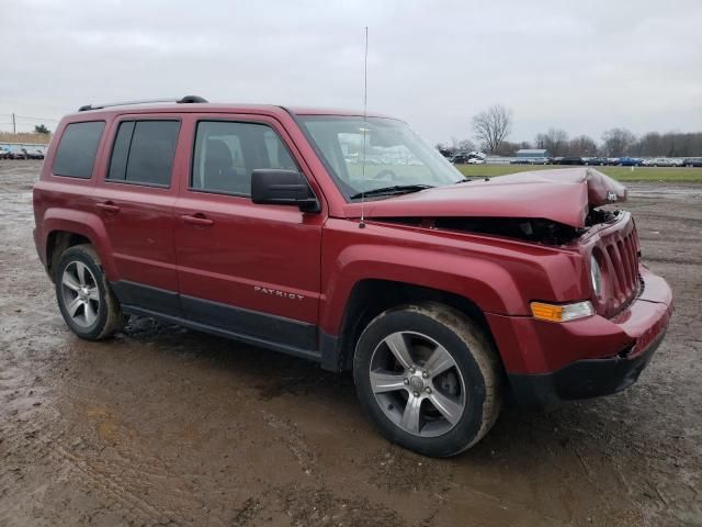
M 502 403 L 500 371 L 485 333 L 433 302 L 381 313 L 353 358 L 371 421 L 392 442 L 431 457 L 455 456 L 488 433 Z

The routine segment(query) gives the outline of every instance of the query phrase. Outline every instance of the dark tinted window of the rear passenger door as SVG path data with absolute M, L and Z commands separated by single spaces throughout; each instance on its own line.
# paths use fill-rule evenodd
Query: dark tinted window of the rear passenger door
M 120 123 L 107 179 L 168 187 L 179 130 L 178 121 Z

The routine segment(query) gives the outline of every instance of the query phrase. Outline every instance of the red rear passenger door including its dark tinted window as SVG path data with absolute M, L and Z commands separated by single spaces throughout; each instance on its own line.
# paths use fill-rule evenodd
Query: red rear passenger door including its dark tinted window
M 124 115 L 111 127 L 112 146 L 104 178 L 93 194 L 117 268 L 113 283 L 120 301 L 180 316 L 173 249 L 173 166 L 178 115 Z

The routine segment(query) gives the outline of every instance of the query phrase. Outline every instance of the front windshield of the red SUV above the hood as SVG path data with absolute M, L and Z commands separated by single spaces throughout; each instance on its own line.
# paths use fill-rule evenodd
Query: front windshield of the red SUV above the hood
M 463 179 L 401 121 L 339 115 L 305 115 L 301 121 L 348 200 L 386 187 L 439 187 Z

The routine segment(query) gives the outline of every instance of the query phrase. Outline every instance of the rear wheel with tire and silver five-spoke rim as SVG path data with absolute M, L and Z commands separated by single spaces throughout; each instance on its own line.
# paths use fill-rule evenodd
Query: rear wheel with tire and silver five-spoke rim
M 102 340 L 124 325 L 120 302 L 92 246 L 66 249 L 56 266 L 54 282 L 64 321 L 80 338 Z

